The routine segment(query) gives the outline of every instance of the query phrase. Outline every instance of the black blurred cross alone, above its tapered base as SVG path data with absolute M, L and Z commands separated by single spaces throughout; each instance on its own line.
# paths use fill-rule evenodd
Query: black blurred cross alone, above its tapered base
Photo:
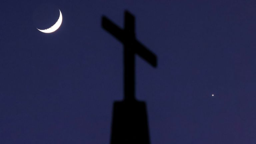
M 124 29 L 119 28 L 105 16 L 102 27 L 124 44 L 124 98 L 135 100 L 135 54 L 138 54 L 152 66 L 156 67 L 155 54 L 145 48 L 135 37 L 134 16 L 125 11 Z

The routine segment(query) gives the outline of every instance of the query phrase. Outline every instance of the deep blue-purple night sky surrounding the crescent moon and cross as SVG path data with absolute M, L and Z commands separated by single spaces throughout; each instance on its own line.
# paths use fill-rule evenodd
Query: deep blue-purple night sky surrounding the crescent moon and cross
M 60 28 L 42 33 L 63 15 Z M 1 0 L 0 143 L 109 144 L 123 44 L 101 27 L 136 18 L 136 98 L 151 144 L 256 143 L 256 3 Z M 214 96 L 212 96 L 214 94 Z

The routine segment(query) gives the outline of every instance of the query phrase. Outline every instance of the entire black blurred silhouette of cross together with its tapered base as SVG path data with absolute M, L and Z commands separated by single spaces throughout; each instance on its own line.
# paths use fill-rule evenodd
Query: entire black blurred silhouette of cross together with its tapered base
M 105 16 L 102 27 L 124 44 L 124 100 L 115 101 L 112 118 L 111 144 L 149 144 L 145 102 L 135 99 L 135 54 L 157 66 L 155 54 L 135 37 L 134 16 L 125 11 L 124 29 Z

